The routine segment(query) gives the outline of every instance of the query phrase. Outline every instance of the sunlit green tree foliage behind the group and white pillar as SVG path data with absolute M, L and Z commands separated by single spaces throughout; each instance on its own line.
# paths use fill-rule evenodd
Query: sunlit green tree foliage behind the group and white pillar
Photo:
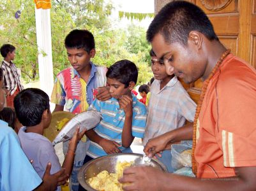
M 93 62 L 110 66 L 117 60 L 130 59 L 139 68 L 138 83 L 146 83 L 152 76 L 149 63 L 150 46 L 145 29 L 130 25 L 116 29 L 110 22 L 111 3 L 103 0 L 52 0 L 51 32 L 54 75 L 70 66 L 64 48 L 64 38 L 73 29 L 87 29 L 94 34 L 96 56 Z M 14 17 L 17 10 L 20 18 Z M 38 49 L 33 1 L 0 0 L 0 45 L 16 46 L 15 64 L 22 70 L 22 78 L 33 81 L 38 76 Z

